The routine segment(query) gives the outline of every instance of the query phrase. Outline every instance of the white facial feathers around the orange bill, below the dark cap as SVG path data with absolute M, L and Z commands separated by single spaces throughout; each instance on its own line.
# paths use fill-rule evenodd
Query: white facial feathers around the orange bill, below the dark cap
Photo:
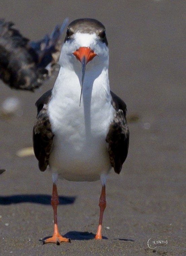
M 89 47 L 93 50 L 97 56 L 94 57 L 86 65 L 86 70 L 91 70 L 95 66 L 99 68 L 108 68 L 109 65 L 109 49 L 105 43 L 103 43 L 96 33 L 75 33 L 71 39 L 67 40 L 61 49 L 61 55 L 59 63 L 62 67 L 70 70 L 76 70 L 81 72 L 81 63 L 76 59 L 73 52 L 79 47 Z

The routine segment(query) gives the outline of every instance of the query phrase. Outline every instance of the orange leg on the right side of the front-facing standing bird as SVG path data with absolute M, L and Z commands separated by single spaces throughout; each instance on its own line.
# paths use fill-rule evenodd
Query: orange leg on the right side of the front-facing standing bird
M 100 219 L 99 219 L 99 226 L 98 226 L 98 231 L 97 231 L 95 239 L 102 239 L 101 229 L 102 229 L 103 213 L 106 208 L 105 185 L 102 186 L 99 207 L 100 207 Z

